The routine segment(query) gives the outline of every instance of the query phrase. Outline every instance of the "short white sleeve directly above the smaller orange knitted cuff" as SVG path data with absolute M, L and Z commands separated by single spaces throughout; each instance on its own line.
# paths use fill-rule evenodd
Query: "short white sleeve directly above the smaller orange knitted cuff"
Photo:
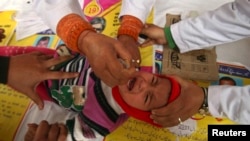
M 145 23 L 156 0 L 122 0 L 119 17 L 131 15 Z

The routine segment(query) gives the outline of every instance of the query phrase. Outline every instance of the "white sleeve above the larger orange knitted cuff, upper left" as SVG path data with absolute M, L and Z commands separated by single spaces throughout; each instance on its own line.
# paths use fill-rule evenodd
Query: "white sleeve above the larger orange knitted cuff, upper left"
M 78 0 L 34 0 L 33 8 L 55 33 L 58 22 L 64 16 L 75 13 L 84 17 Z

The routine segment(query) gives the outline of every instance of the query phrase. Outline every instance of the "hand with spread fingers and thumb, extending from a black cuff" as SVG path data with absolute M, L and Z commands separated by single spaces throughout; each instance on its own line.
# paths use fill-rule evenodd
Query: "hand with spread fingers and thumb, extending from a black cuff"
M 44 103 L 36 93 L 37 85 L 47 79 L 76 77 L 78 73 L 50 70 L 52 66 L 70 58 L 70 56 L 53 58 L 52 55 L 45 55 L 41 52 L 12 56 L 7 84 L 30 97 L 38 105 L 39 109 L 43 109 Z

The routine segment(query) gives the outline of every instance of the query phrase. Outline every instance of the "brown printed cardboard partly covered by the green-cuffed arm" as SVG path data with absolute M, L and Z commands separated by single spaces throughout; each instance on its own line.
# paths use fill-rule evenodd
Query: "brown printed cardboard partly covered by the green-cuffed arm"
M 180 15 L 166 15 L 166 26 L 180 21 Z M 192 80 L 214 81 L 218 79 L 215 48 L 180 53 L 167 45 L 163 49 L 163 74 L 176 74 Z

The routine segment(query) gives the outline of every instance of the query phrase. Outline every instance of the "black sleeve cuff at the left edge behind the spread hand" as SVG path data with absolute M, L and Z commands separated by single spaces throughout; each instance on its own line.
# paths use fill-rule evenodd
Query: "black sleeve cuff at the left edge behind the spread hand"
M 7 84 L 10 57 L 0 56 L 0 83 Z

